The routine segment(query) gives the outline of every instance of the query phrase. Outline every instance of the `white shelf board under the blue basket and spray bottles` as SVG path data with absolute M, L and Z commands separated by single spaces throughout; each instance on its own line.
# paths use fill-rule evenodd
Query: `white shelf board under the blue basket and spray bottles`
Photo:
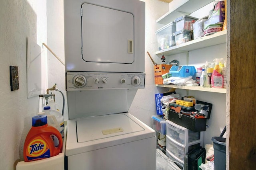
M 177 86 L 177 85 L 167 85 L 167 84 L 156 84 L 157 87 L 166 87 L 166 88 L 177 88 L 177 89 L 185 89 L 185 90 L 197 90 L 204 92 L 214 92 L 214 93 L 226 93 L 226 88 L 207 88 L 200 86 Z

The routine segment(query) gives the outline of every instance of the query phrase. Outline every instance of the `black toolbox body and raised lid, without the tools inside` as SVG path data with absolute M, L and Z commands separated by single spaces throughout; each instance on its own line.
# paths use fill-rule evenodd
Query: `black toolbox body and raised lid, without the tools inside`
M 207 118 L 196 119 L 194 117 L 190 117 L 189 115 L 184 115 L 182 113 L 178 113 L 178 112 L 174 111 L 173 109 L 169 109 L 168 120 L 170 120 L 182 127 L 186 127 L 187 129 L 189 129 L 191 131 L 196 131 L 196 132 L 205 131 L 206 130 L 206 120 L 210 119 L 210 114 L 212 111 L 212 104 L 202 102 L 202 101 L 197 101 L 196 104 L 201 104 L 201 106 L 208 107 Z M 170 104 L 170 106 L 172 106 L 172 105 Z M 178 106 L 176 106 L 176 107 L 178 107 Z M 187 110 L 185 107 L 183 107 L 182 111 L 189 112 L 191 110 Z M 193 107 L 192 111 L 198 111 L 198 110 L 194 109 L 194 107 Z

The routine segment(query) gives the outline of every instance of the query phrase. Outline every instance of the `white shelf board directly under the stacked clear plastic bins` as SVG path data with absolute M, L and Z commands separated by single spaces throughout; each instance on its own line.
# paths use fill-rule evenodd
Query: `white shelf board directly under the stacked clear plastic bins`
M 168 49 L 156 51 L 156 55 L 174 55 L 179 53 L 184 53 L 186 51 L 192 51 L 196 49 L 201 49 L 204 47 L 210 47 L 212 45 L 218 45 L 227 42 L 227 30 L 216 32 L 212 35 L 207 35 L 180 45 L 175 45 Z

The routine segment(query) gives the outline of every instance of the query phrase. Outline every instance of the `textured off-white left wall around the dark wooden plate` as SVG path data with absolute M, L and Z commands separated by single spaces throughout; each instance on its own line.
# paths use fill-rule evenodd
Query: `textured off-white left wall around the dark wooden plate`
M 27 37 L 40 46 L 46 41 L 46 2 L 1 0 L 0 30 L 0 169 L 13 170 L 39 111 L 39 97 L 27 98 L 26 44 Z M 19 90 L 10 90 L 10 65 L 18 66 Z

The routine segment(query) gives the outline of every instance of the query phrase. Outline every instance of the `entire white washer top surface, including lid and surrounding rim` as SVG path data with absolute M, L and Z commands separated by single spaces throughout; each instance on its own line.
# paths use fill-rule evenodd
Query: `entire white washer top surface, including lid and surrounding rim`
M 130 113 L 71 119 L 67 127 L 66 156 L 156 137 L 156 131 Z M 117 132 L 120 127 L 123 131 Z

